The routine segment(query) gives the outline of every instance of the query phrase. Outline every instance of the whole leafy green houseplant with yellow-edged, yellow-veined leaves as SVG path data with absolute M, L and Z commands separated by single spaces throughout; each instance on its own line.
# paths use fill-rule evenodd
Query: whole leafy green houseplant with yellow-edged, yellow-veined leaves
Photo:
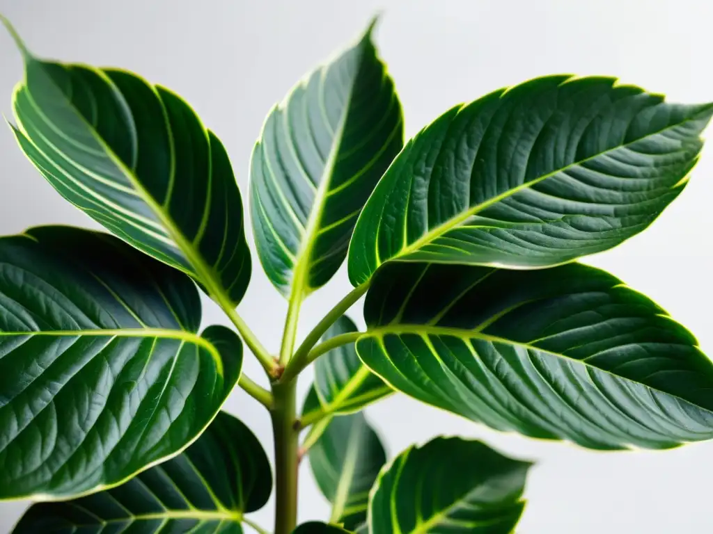
M 270 111 L 253 153 L 257 251 L 289 300 L 273 358 L 235 309 L 250 253 L 218 137 L 169 90 L 18 43 L 22 150 L 129 245 L 59 227 L 0 242 L 0 498 L 56 501 L 17 531 L 240 530 L 272 473 L 250 431 L 219 414 L 236 383 L 270 409 L 278 533 L 296 523 L 305 454 L 330 523 L 349 530 L 512 530 L 528 464 L 453 438 L 386 464 L 358 412 L 394 389 L 592 449 L 709 439 L 711 366 L 692 335 L 568 262 L 620 244 L 677 197 L 710 106 L 550 76 L 457 106 L 403 147 L 369 28 Z M 347 256 L 354 291 L 297 342 L 302 300 Z M 240 336 L 198 334 L 191 278 Z M 359 333 L 344 313 L 365 293 Z M 270 391 L 241 375 L 243 342 Z M 294 382 L 312 362 L 300 410 Z

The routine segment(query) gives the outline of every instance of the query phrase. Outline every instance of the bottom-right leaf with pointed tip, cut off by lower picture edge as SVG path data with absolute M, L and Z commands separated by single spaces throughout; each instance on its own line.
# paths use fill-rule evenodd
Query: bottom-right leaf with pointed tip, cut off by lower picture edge
M 509 534 L 530 465 L 461 438 L 406 449 L 371 490 L 369 533 Z

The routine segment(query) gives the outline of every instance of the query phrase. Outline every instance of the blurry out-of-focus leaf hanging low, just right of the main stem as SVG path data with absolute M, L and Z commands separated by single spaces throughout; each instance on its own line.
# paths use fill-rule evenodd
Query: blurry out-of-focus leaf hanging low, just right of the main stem
M 317 486 L 332 503 L 330 523 L 354 529 L 366 520 L 369 490 L 386 464 L 386 451 L 364 414 L 334 417 L 309 449 Z

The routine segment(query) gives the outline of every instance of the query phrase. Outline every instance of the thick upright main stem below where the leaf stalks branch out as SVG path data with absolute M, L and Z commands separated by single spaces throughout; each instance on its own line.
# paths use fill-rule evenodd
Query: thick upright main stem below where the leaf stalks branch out
M 272 410 L 272 434 L 275 437 L 275 534 L 290 534 L 297 525 L 297 464 L 299 432 L 294 428 L 297 416 L 297 384 L 272 386 L 275 407 Z

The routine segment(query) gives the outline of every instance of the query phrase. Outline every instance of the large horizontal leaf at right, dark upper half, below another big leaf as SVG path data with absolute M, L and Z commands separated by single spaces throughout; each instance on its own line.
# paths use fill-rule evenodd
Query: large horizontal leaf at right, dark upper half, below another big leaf
M 713 438 L 713 363 L 604 271 L 393 263 L 364 315 L 356 350 L 371 370 L 494 429 L 592 449 Z

